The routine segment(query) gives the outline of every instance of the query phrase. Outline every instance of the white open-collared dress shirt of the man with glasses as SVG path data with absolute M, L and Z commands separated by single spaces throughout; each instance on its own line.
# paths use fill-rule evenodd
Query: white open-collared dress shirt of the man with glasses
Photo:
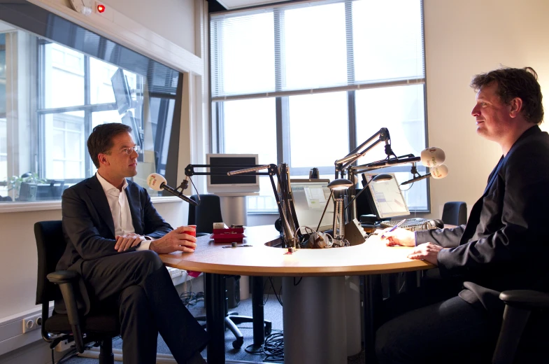
M 129 210 L 129 202 L 126 196 L 126 188 L 128 182 L 124 179 L 124 186 L 122 191 L 118 190 L 115 186 L 108 183 L 106 179 L 101 177 L 99 172 L 95 174 L 101 187 L 105 191 L 107 196 L 108 207 L 110 208 L 110 214 L 113 215 L 113 222 L 115 223 L 115 236 L 125 235 L 129 232 L 135 232 L 134 223 L 131 221 L 131 211 Z M 148 250 L 150 241 L 141 241 L 141 244 L 136 250 Z

